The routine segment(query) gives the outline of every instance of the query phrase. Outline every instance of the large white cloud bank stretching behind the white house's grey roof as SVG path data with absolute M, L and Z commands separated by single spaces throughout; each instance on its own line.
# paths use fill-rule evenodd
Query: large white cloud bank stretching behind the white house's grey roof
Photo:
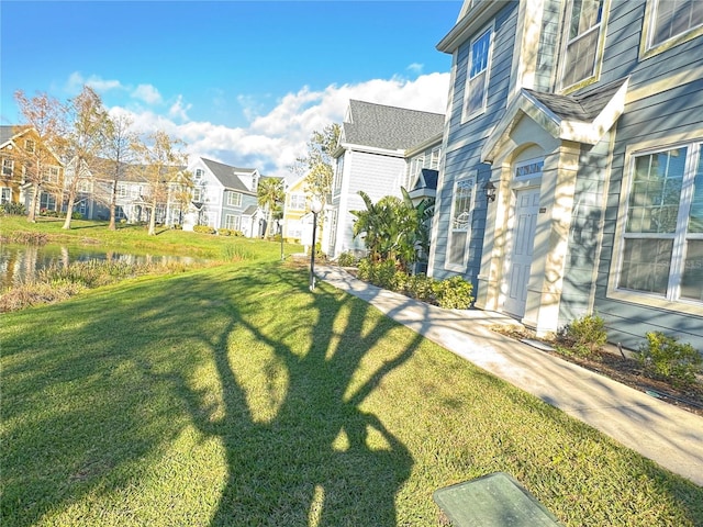
M 137 131 L 152 133 L 163 130 L 182 139 L 192 156 L 257 168 L 266 176 L 289 177 L 288 167 L 297 157 L 306 154 L 305 145 L 311 134 L 328 124 L 342 123 L 349 99 L 444 113 L 448 89 L 449 74 L 424 75 L 415 80 L 393 78 L 358 85 L 332 85 L 322 91 L 303 87 L 295 93 L 286 94 L 268 113 L 261 112 L 256 99 L 243 96 L 237 102 L 250 119 L 246 127 L 188 120 L 186 112 L 192 114 L 196 109 L 185 105 L 181 97 L 167 115 L 119 108 L 111 111 L 130 113 Z M 154 93 L 158 91 L 154 89 Z

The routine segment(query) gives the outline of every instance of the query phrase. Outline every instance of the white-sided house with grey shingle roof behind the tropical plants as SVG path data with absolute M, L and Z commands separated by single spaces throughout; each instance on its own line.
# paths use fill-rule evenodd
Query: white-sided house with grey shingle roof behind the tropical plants
M 404 108 L 350 100 L 342 124 L 335 159 L 332 201 L 325 211 L 322 250 L 331 257 L 345 251 L 364 253 L 364 240 L 354 238 L 355 216 L 364 210 L 358 191 L 377 202 L 401 197 L 423 168 L 436 169 L 445 116 Z

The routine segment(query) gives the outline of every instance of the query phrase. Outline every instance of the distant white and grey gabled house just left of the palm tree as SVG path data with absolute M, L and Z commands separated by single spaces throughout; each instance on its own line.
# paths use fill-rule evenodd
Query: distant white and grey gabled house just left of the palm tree
M 238 231 L 247 237 L 263 235 L 266 216 L 258 206 L 260 175 L 257 169 L 194 157 L 188 170 L 193 181 L 193 211 L 186 216 L 185 229 L 209 225 L 214 229 Z

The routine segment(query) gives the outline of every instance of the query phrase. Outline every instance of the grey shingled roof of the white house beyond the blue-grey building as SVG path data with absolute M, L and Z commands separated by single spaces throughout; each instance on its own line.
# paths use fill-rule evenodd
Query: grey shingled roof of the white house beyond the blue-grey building
M 444 120 L 442 113 L 350 100 L 341 143 L 405 150 L 442 134 Z

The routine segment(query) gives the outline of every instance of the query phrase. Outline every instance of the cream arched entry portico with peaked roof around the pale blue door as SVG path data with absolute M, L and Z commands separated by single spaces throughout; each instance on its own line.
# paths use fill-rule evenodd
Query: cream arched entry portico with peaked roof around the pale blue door
M 579 98 L 523 89 L 489 136 L 488 208 L 476 306 L 556 332 L 580 171 L 623 113 L 627 80 Z

